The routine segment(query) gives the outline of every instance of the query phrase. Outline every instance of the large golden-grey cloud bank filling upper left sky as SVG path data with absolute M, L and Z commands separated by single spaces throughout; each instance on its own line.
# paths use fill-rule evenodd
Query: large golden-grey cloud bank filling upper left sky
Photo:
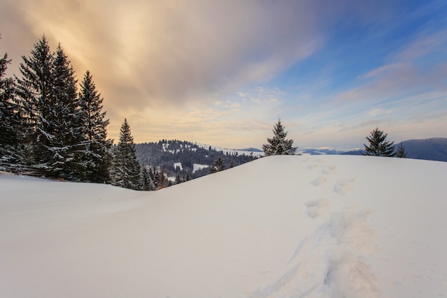
M 45 34 L 81 78 L 89 69 L 109 115 L 188 106 L 263 83 L 321 46 L 312 1 L 26 1 L 2 7 L 29 55 Z M 15 34 L 16 32 L 14 32 Z M 12 36 L 9 43 L 20 42 Z M 32 36 L 32 37 L 31 37 Z M 19 58 L 19 57 L 15 57 Z

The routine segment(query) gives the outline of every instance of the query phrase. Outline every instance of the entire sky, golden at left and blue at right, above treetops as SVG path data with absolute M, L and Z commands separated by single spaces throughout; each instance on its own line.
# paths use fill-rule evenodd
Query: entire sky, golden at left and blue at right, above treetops
M 44 34 L 104 98 L 109 138 L 299 148 L 447 137 L 447 2 L 0 0 L 9 74 Z

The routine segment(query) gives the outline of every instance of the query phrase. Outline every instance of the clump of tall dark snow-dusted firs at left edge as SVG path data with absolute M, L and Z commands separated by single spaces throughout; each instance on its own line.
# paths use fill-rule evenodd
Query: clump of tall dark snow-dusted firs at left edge
M 21 78 L 4 78 L 1 58 L 1 160 L 9 170 L 70 181 L 109 180 L 111 140 L 106 140 L 102 98 L 87 73 L 81 92 L 69 58 L 46 36 L 23 56 Z M 4 143 L 4 144 L 3 144 Z M 6 152 L 8 151 L 8 152 Z

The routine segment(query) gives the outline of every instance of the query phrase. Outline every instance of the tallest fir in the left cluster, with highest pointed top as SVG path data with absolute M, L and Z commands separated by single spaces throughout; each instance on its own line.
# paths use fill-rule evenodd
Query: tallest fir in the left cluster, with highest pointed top
M 22 78 L 16 78 L 24 131 L 24 162 L 49 172 L 53 155 L 49 150 L 54 131 L 50 119 L 54 115 L 54 53 L 45 36 L 34 44 L 31 56 L 22 56 Z

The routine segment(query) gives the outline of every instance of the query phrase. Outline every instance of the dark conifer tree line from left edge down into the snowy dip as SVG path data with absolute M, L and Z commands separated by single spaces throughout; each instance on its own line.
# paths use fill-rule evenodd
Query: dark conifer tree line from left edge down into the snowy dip
M 6 77 L 11 60 L 7 53 L 0 57 L 0 170 L 111 183 L 134 190 L 156 190 L 172 184 L 167 179 L 168 170 L 148 163 L 141 163 L 141 167 L 126 119 L 119 143 L 113 145 L 107 138 L 109 119 L 103 111 L 104 98 L 90 71 L 78 84 L 60 43 L 51 51 L 48 39 L 41 36 L 29 56 L 22 58 L 21 76 Z M 212 157 L 214 152 L 208 155 Z M 248 159 L 241 158 L 238 164 Z M 189 165 L 191 158 L 181 161 Z M 193 168 L 192 163 L 189 168 Z M 197 172 L 197 177 L 205 175 L 204 170 Z M 187 172 L 178 176 L 176 183 L 191 179 Z

